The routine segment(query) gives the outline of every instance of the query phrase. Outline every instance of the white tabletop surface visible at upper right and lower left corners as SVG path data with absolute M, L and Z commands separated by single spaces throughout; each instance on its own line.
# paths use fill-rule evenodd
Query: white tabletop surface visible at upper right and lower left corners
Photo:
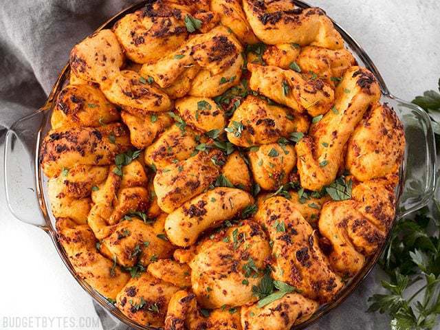
M 424 90 L 437 87 L 439 1 L 316 0 L 311 3 L 324 8 L 358 40 L 395 95 L 411 100 Z M 5 327 L 5 316 L 73 318 L 76 323 L 81 317 L 96 320 L 91 299 L 69 274 L 49 236 L 14 219 L 4 202 L 3 183 L 0 189 L 0 329 L 14 329 Z M 85 329 L 65 324 L 65 319 L 60 322 L 55 320 L 52 327 L 38 329 Z M 100 329 L 100 326 L 87 329 Z M 347 325 L 344 329 L 352 328 Z

